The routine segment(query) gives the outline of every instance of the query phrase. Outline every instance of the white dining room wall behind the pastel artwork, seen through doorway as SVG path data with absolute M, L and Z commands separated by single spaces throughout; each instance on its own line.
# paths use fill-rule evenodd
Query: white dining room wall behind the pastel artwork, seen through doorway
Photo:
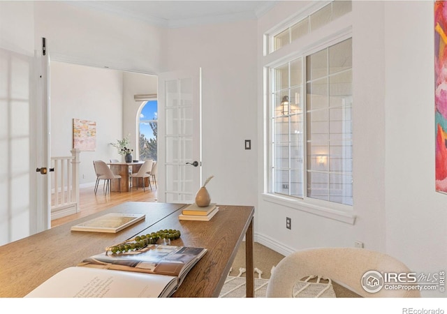
M 96 122 L 95 151 L 80 152 L 80 184 L 94 182 L 93 160 L 120 158 L 110 145 L 122 137 L 123 73 L 51 62 L 51 156 L 71 156 L 73 119 Z

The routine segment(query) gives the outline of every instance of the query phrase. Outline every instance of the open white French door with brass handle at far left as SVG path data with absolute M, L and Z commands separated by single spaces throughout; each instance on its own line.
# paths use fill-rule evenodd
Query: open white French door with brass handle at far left
M 50 227 L 47 64 L 0 48 L 0 245 Z

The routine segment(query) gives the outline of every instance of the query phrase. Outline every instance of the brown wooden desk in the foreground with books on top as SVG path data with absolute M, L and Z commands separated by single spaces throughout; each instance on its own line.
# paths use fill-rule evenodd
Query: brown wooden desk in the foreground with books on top
M 0 246 L 0 297 L 24 297 L 58 271 L 104 251 L 106 246 L 160 229 L 180 230 L 178 246 L 203 246 L 208 252 L 191 269 L 173 297 L 218 297 L 237 250 L 246 238 L 247 296 L 254 295 L 254 207 L 222 206 L 212 220 L 178 220 L 184 204 L 126 202 L 100 213 Z M 145 220 L 117 234 L 71 231 L 72 225 L 110 212 L 142 213 Z M 251 276 L 250 276 L 251 275 Z

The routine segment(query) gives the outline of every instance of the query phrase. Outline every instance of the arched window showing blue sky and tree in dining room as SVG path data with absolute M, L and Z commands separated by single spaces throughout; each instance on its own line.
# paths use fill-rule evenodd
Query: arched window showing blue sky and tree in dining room
M 157 110 L 157 100 L 148 100 L 142 105 L 138 140 L 140 160 L 157 160 Z

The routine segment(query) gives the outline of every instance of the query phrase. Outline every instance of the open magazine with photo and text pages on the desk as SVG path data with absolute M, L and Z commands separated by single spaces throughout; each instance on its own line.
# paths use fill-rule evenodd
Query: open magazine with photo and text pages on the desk
M 59 271 L 25 297 L 170 297 L 206 252 L 154 244 L 101 253 Z

